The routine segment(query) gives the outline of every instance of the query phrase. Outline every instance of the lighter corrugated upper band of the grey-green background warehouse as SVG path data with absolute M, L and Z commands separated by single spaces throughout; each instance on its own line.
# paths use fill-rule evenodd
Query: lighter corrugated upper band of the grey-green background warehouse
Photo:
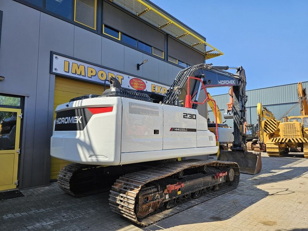
M 275 87 L 266 87 L 246 91 L 248 101 L 246 107 L 257 106 L 257 103 L 262 105 L 272 105 L 280 103 L 293 103 L 298 101 L 297 84 L 286 84 Z M 304 88 L 308 89 L 308 81 L 302 82 Z M 226 103 L 229 103 L 229 94 L 213 95 L 217 105 L 223 109 Z

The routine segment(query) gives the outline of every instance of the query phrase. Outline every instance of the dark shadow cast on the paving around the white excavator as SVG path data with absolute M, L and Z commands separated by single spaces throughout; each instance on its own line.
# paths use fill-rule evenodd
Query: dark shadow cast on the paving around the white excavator
M 303 164 L 305 160 L 262 156 L 262 171 L 254 176 L 241 174 L 238 188 L 148 227 L 112 213 L 108 204 L 109 192 L 76 198 L 62 192 L 54 182 L 47 187 L 21 190 L 25 197 L 0 201 L 0 230 L 160 230 L 225 221 L 267 196 L 294 193 L 290 188 L 282 187 L 270 188 L 269 193 L 257 186 L 308 178 L 303 176 L 308 170 L 308 162 Z

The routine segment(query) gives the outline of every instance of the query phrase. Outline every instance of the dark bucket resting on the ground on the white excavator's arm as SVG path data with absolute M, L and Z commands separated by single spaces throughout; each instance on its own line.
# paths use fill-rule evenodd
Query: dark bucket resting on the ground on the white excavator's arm
M 241 173 L 255 175 L 261 171 L 261 152 L 220 150 L 217 160 L 236 162 Z

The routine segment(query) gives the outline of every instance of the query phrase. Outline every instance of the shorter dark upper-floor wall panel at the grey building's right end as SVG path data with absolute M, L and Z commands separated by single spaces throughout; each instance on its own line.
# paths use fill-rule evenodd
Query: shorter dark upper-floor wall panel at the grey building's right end
M 203 55 L 171 37 L 168 37 L 168 55 L 190 65 L 204 63 Z

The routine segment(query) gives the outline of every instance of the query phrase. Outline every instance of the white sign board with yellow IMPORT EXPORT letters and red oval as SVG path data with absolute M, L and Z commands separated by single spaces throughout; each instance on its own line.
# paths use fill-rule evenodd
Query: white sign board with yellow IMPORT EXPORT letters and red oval
M 142 79 L 106 67 L 85 63 L 73 58 L 51 53 L 51 73 L 64 75 L 75 79 L 82 79 L 95 83 L 110 85 L 108 79 L 115 77 L 123 88 L 131 90 L 149 91 L 164 95 L 169 86 Z

